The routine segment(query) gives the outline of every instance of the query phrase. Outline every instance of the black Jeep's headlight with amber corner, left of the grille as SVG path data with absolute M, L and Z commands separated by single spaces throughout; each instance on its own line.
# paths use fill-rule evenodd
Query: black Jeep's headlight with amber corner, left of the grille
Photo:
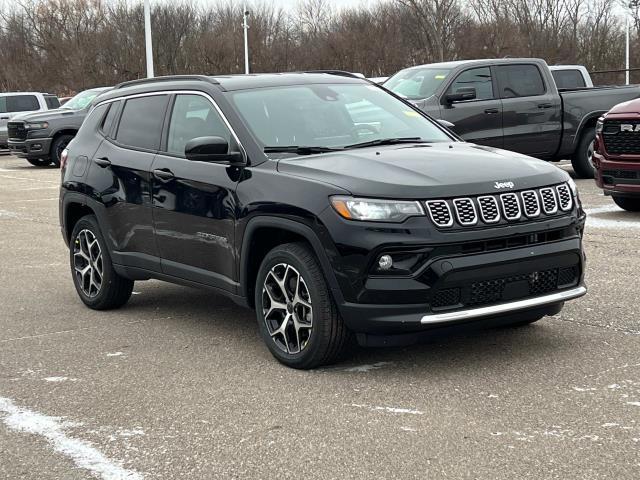
M 422 205 L 412 201 L 331 197 L 331 204 L 341 217 L 348 220 L 402 222 L 415 215 L 424 215 Z

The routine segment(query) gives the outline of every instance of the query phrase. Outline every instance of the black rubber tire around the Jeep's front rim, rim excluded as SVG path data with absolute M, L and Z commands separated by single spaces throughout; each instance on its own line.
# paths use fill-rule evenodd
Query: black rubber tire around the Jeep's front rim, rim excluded
M 302 278 L 304 278 L 313 305 L 313 328 L 309 342 L 304 350 L 296 354 L 285 353 L 275 344 L 267 330 L 267 326 L 264 321 L 264 314 L 262 312 L 262 286 L 264 284 L 264 280 L 269 273 L 269 270 L 279 263 L 287 263 L 298 270 L 300 275 L 302 275 Z M 322 292 L 322 290 L 328 292 L 326 282 L 324 278 L 321 277 L 324 284 L 318 285 L 316 282 L 317 275 L 314 275 L 311 272 L 311 269 L 318 269 L 318 271 L 320 271 L 320 267 L 317 262 L 315 265 L 307 265 L 306 263 L 307 262 L 299 258 L 294 251 L 287 251 L 276 247 L 265 256 L 262 265 L 260 266 L 260 270 L 258 271 L 255 287 L 256 318 L 258 320 L 260 335 L 273 356 L 275 356 L 280 362 L 293 368 L 306 368 L 310 359 L 322 356 L 321 350 L 326 348 L 322 339 L 326 336 L 326 329 L 331 328 L 329 325 L 330 319 L 325 318 L 327 313 L 331 311 L 331 306 L 327 305 L 326 302 L 323 301 L 324 299 L 328 299 L 328 297 L 326 294 L 323 294 L 324 292 Z

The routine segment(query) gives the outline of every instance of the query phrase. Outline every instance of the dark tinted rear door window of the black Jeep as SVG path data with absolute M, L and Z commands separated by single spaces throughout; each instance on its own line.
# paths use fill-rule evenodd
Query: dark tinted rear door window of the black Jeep
M 127 100 L 122 110 L 116 141 L 145 150 L 160 147 L 167 95 L 153 95 Z

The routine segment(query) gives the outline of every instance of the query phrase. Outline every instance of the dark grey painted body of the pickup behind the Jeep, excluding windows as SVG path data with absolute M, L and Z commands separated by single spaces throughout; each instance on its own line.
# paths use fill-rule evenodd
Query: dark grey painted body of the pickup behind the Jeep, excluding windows
M 452 122 L 453 130 L 469 142 L 546 160 L 570 157 L 576 151 L 584 129 L 595 127 L 600 115 L 618 103 L 640 97 L 640 86 L 637 85 L 559 92 L 549 67 L 540 59 L 463 60 L 433 65 L 448 66 L 451 73 L 434 95 L 412 99 L 415 105 L 433 118 Z M 530 97 L 445 101 L 444 96 L 456 77 L 470 68 L 490 67 L 494 92 L 499 92 L 495 70 L 501 65 L 535 65 L 542 76 L 545 93 Z

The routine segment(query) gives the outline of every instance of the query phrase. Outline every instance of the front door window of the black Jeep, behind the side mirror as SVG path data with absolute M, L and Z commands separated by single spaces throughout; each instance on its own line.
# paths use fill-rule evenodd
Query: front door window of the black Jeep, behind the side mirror
M 183 157 L 187 142 L 198 137 L 222 137 L 231 145 L 231 132 L 209 100 L 201 95 L 176 96 L 167 152 Z

